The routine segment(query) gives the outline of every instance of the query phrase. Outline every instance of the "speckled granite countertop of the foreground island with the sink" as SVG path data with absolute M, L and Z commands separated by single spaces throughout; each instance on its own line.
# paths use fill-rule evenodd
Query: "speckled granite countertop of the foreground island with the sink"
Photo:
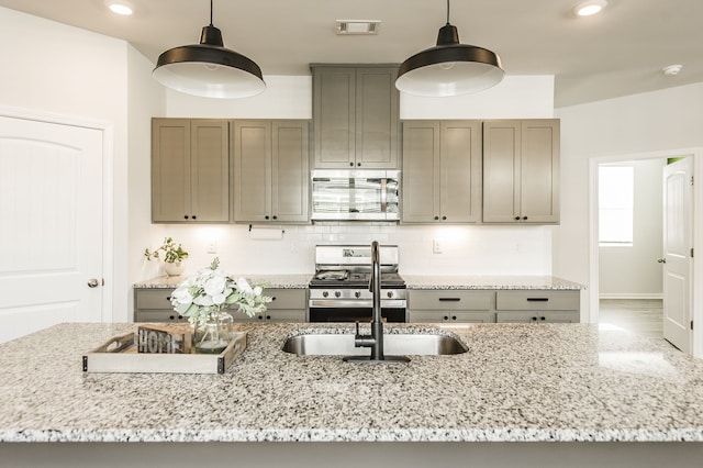
M 281 350 L 348 324 L 241 324 L 224 375 L 83 374 L 134 324 L 59 324 L 0 345 L 0 442 L 703 441 L 703 361 L 591 324 L 387 325 L 469 350 L 359 365 Z

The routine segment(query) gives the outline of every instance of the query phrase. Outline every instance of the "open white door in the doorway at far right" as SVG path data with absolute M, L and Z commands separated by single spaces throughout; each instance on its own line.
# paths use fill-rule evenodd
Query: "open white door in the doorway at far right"
M 663 337 L 691 353 L 693 169 L 690 157 L 663 169 Z

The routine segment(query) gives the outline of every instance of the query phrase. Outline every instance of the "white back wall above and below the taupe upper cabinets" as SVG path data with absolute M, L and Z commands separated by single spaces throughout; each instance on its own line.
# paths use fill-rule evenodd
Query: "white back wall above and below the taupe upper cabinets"
M 167 115 L 192 118 L 312 119 L 312 78 L 266 76 L 267 90 L 256 97 L 219 100 L 167 90 Z M 521 96 L 528 97 L 518 99 Z M 512 76 L 486 93 L 458 98 L 401 96 L 401 119 L 551 118 L 554 78 Z M 266 274 L 314 270 L 316 244 L 398 244 L 404 274 L 550 275 L 551 229 L 545 226 L 405 226 L 326 223 L 282 226 L 280 239 L 253 238 L 247 225 L 164 226 L 190 252 L 191 270 L 205 266 L 207 245 L 232 271 Z M 433 254 L 433 239 L 443 253 Z M 159 244 L 149 245 L 149 247 Z M 146 247 L 146 245 L 145 245 Z

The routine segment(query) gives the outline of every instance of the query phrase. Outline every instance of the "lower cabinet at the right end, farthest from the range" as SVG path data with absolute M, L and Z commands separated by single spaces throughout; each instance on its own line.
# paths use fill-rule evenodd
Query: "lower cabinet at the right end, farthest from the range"
M 495 311 L 499 323 L 578 323 L 580 291 L 496 291 Z

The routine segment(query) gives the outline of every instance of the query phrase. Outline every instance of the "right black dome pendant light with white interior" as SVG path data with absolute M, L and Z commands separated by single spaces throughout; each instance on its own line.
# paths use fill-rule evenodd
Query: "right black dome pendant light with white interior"
M 437 45 L 401 64 L 395 88 L 415 96 L 460 96 L 491 88 L 501 82 L 504 75 L 496 54 L 459 44 L 459 33 L 449 24 L 447 0 L 447 24 L 439 29 Z

